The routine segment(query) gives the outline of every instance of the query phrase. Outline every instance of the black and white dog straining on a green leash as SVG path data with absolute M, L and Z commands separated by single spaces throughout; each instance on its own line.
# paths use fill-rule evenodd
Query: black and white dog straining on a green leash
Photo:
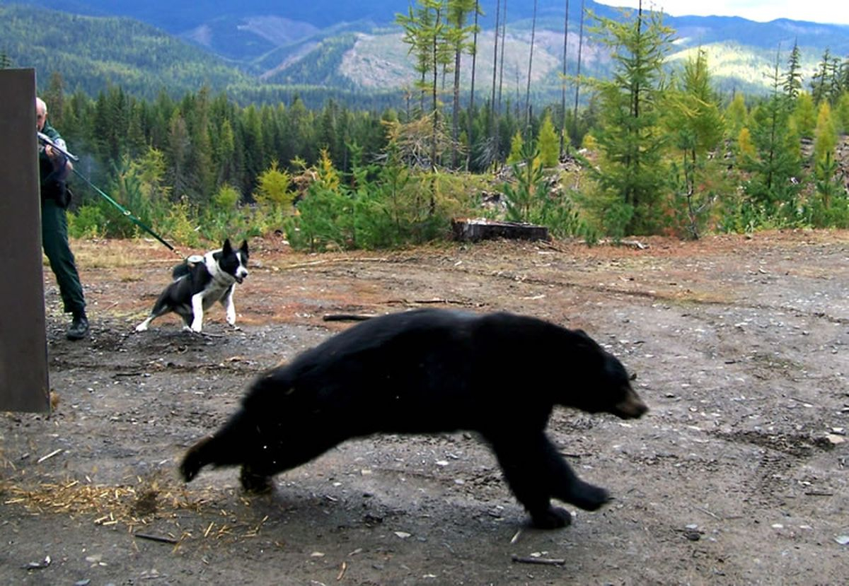
M 224 241 L 222 248 L 211 250 L 203 256 L 189 257 L 186 262 L 174 267 L 171 282 L 146 320 L 136 326 L 136 332 L 144 332 L 151 321 L 173 311 L 183 318 L 183 329 L 200 332 L 203 327 L 204 311 L 220 301 L 227 311 L 227 322 L 236 323 L 236 308 L 233 305 L 233 289 L 236 283 L 248 276 L 248 243 L 242 241 L 238 250 Z

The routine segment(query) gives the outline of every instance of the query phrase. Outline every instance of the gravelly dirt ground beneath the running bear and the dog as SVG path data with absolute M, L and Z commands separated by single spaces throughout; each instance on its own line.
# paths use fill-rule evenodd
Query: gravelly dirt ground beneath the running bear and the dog
M 255 239 L 238 328 L 216 307 L 197 335 L 174 315 L 133 330 L 165 248 L 73 243 L 92 333 L 65 340 L 46 271 L 59 405 L 0 414 L 0 582 L 846 583 L 849 232 L 641 244 L 310 255 Z M 423 305 L 581 327 L 638 374 L 644 418 L 559 409 L 549 425 L 610 505 L 527 527 L 469 433 L 351 441 L 260 497 L 234 469 L 177 478 L 257 372 L 351 326 L 325 315 Z

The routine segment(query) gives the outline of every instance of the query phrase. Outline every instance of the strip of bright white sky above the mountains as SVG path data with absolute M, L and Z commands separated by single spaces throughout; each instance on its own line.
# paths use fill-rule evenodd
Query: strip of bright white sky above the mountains
M 638 6 L 638 0 L 596 2 L 627 8 Z M 643 8 L 662 10 L 672 16 L 742 16 L 758 22 L 792 19 L 849 25 L 846 0 L 643 0 Z

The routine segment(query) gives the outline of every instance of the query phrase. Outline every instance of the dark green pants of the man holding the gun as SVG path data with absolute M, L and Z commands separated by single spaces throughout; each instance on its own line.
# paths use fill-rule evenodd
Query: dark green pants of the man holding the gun
M 74 254 L 68 245 L 68 216 L 52 199 L 42 199 L 42 245 L 59 284 L 65 313 L 82 313 L 86 309 L 86 299 L 82 295 Z

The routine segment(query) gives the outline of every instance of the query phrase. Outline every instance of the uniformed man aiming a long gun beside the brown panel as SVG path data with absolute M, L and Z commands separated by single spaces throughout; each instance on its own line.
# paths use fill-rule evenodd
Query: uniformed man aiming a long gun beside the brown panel
M 59 132 L 48 123 L 48 106 L 42 98 L 36 98 L 36 129 L 59 147 L 65 141 Z M 42 197 L 42 246 L 50 261 L 50 269 L 59 284 L 65 313 L 73 315 L 70 327 L 65 332 L 69 340 L 82 340 L 88 335 L 86 299 L 82 293 L 80 274 L 76 271 L 74 254 L 68 243 L 68 216 L 65 213 L 70 203 L 70 194 L 65 180 L 72 170 L 65 154 L 49 144 L 39 141 L 38 176 L 41 181 Z

